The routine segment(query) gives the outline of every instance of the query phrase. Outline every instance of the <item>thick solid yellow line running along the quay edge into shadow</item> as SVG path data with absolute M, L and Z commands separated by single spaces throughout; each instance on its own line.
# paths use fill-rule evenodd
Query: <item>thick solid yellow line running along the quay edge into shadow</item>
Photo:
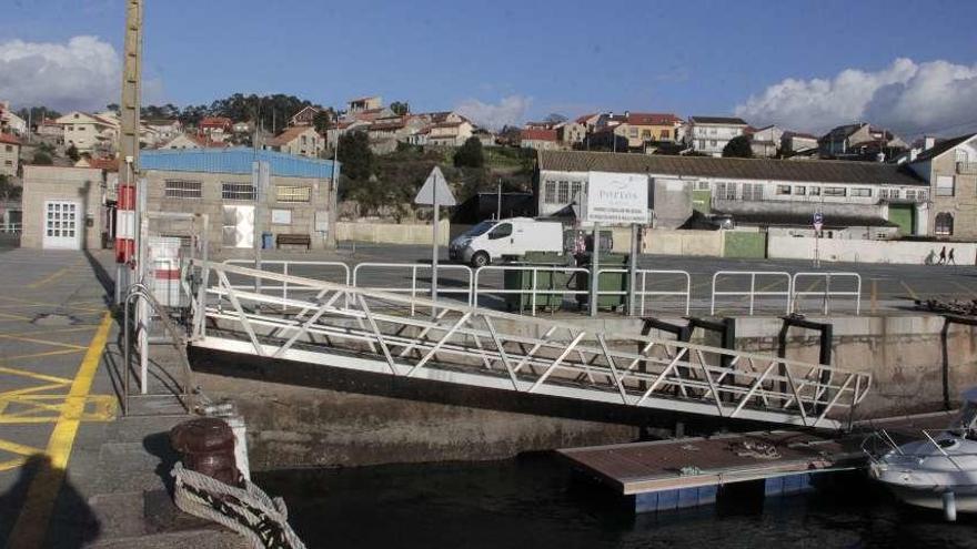
M 48 440 L 47 454 L 51 458 L 50 466 L 41 468 L 28 488 L 23 508 L 7 541 L 10 547 L 40 547 L 44 542 L 54 498 L 58 497 L 61 484 L 64 481 L 64 469 L 68 467 L 71 447 L 78 434 L 79 418 L 84 411 L 84 397 L 91 390 L 111 326 L 112 316 L 107 312 L 88 347 L 88 353 L 81 360 L 78 375 L 71 383 L 71 389 L 68 392 L 71 398 L 61 408 L 61 416 Z

